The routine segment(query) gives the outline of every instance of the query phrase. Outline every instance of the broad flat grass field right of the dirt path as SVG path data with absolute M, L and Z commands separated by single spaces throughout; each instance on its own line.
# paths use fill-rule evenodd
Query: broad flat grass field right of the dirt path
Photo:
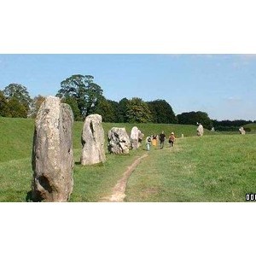
M 125 201 L 246 201 L 255 181 L 256 135 L 180 138 L 174 148 L 152 148 Z

